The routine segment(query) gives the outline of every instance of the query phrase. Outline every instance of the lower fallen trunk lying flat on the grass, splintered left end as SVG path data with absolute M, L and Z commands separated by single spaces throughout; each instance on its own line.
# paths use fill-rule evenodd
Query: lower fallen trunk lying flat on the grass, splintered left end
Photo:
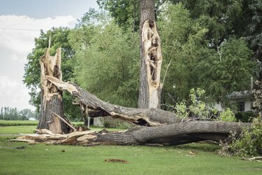
M 17 141 L 52 141 L 53 144 L 78 144 L 82 146 L 103 145 L 143 145 L 143 144 L 189 144 L 196 141 L 219 141 L 226 139 L 230 132 L 240 133 L 247 123 L 211 121 L 191 121 L 159 125 L 156 127 L 133 127 L 126 132 L 73 132 L 67 137 L 59 134 L 26 135 Z

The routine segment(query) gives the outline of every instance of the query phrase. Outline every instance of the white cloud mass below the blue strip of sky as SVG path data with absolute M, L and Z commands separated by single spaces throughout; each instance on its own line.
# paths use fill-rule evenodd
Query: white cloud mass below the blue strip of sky
M 34 38 L 40 35 L 40 29 L 74 27 L 75 22 L 76 19 L 71 15 L 41 19 L 25 15 L 0 15 L 0 107 L 34 110 L 28 104 L 30 97 L 22 83 L 24 64 L 27 55 L 34 48 Z

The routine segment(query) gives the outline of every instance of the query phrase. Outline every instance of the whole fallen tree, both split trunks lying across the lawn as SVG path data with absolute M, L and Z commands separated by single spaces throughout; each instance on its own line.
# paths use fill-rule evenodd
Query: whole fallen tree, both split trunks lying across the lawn
M 80 132 L 69 134 L 66 139 L 52 140 L 57 144 L 79 144 L 94 146 L 96 144 L 140 145 L 140 144 L 187 144 L 194 141 L 219 141 L 226 139 L 231 132 L 240 133 L 242 127 L 248 123 L 231 123 L 220 121 L 194 121 L 184 120 L 174 113 L 161 109 L 133 109 L 109 104 L 98 99 L 93 94 L 82 90 L 74 83 L 65 83 L 58 78 L 46 76 L 59 90 L 67 90 L 79 102 L 89 109 L 113 118 L 121 118 L 138 125 L 125 132 Z M 143 125 L 143 126 L 139 126 Z M 54 134 L 55 135 L 55 134 Z M 50 137 L 50 136 L 49 136 Z M 54 136 L 57 138 L 57 135 Z M 40 137 L 43 141 L 43 136 Z M 58 137 L 59 138 L 59 137 Z M 21 138 L 19 138 L 21 139 Z M 29 140 L 30 138 L 24 138 Z M 39 140 L 39 138 L 38 138 Z

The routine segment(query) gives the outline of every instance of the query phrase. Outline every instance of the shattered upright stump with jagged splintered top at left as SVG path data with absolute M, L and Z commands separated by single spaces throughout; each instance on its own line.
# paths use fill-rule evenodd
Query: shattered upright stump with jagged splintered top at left
M 68 133 L 67 125 L 57 116 L 64 118 L 62 91 L 46 79 L 54 76 L 61 80 L 61 48 L 54 57 L 50 56 L 50 48 L 41 58 L 41 114 L 37 129 L 48 129 L 54 134 Z M 53 112 L 53 113 L 52 113 Z

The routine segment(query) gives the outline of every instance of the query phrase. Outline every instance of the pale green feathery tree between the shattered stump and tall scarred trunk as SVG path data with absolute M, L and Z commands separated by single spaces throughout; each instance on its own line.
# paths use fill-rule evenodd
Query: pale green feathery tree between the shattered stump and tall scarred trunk
M 96 21 L 103 23 L 103 19 Z M 123 33 L 112 21 L 103 24 L 82 25 L 71 33 L 71 45 L 81 45 L 74 47 L 74 80 L 104 101 L 135 107 L 138 101 L 138 45 L 134 45 L 131 32 Z M 135 39 L 138 42 L 138 34 Z

